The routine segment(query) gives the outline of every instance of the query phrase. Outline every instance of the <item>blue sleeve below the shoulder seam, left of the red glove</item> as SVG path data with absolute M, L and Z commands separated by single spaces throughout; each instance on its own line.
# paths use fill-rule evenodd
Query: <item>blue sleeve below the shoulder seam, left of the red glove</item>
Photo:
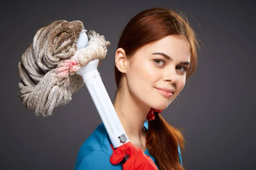
M 121 165 L 112 165 L 109 159 L 110 156 L 107 153 L 94 150 L 84 157 L 78 170 L 122 170 Z

